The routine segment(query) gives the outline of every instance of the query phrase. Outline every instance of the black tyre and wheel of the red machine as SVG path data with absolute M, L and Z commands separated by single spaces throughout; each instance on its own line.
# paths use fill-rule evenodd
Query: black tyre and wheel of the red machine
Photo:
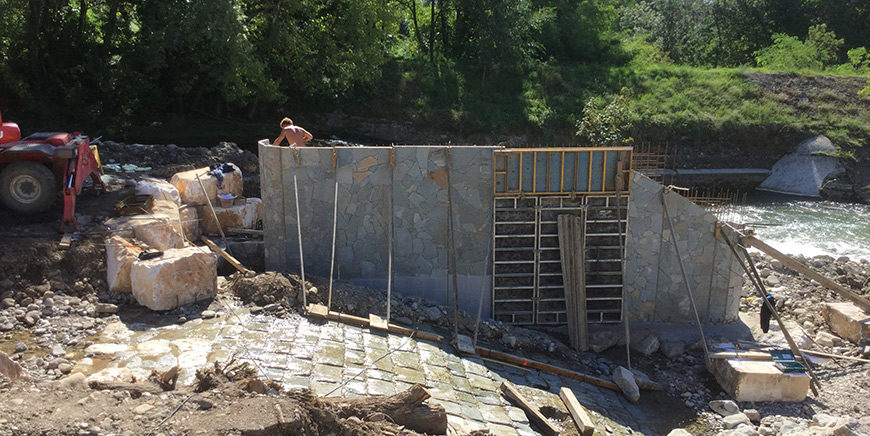
M 0 201 L 15 212 L 43 212 L 56 198 L 57 181 L 45 165 L 15 162 L 0 172 Z

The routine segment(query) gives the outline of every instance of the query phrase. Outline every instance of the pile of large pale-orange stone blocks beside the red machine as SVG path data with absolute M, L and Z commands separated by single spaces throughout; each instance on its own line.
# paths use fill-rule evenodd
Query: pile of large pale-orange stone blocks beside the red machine
M 207 167 L 197 168 L 176 173 L 170 182 L 149 178 L 136 183 L 137 194 L 152 196 L 153 206 L 147 214 L 106 222 L 111 291 L 131 292 L 152 310 L 170 310 L 216 294 L 217 256 L 193 241 L 201 233 L 251 229 L 262 221 L 260 199 L 242 197 L 242 170 L 234 164 L 224 170 L 213 175 Z M 221 206 L 221 197 L 237 204 Z

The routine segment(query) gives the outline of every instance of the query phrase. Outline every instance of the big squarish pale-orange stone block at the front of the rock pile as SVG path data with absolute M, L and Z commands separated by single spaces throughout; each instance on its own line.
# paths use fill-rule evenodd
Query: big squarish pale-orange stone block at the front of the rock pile
M 198 247 L 166 250 L 137 260 L 130 273 L 133 296 L 152 310 L 170 310 L 217 293 L 217 256 Z

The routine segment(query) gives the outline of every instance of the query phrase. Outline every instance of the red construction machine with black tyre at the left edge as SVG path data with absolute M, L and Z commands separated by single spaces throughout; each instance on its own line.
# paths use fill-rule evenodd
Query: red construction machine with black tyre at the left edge
M 63 220 L 78 228 L 76 196 L 90 177 L 94 188 L 105 190 L 100 179 L 96 146 L 79 133 L 42 132 L 21 139 L 15 123 L 4 123 L 0 115 L 0 202 L 20 213 L 48 210 L 63 196 Z

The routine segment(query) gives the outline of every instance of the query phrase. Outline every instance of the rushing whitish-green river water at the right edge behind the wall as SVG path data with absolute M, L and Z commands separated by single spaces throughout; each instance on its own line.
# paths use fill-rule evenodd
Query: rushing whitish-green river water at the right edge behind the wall
M 870 205 L 759 192 L 723 218 L 749 224 L 784 253 L 870 260 Z

